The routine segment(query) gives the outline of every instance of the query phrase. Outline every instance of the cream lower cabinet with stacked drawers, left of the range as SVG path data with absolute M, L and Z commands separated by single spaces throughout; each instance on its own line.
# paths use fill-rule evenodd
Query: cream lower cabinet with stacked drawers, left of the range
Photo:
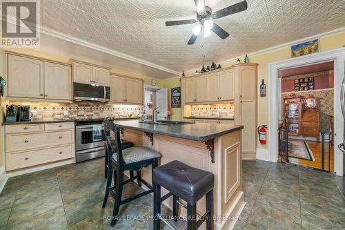
M 5 126 L 6 171 L 75 157 L 72 122 Z

